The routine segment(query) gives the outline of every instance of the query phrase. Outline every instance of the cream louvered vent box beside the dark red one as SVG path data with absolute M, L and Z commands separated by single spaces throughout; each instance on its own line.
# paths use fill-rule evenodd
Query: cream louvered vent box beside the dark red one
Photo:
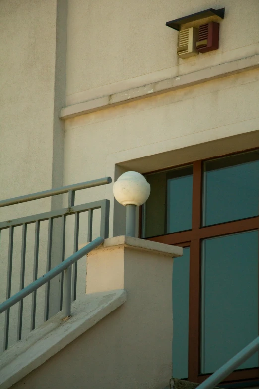
M 177 54 L 180 58 L 192 57 L 198 54 L 196 49 L 198 33 L 199 30 L 194 27 L 179 31 Z

